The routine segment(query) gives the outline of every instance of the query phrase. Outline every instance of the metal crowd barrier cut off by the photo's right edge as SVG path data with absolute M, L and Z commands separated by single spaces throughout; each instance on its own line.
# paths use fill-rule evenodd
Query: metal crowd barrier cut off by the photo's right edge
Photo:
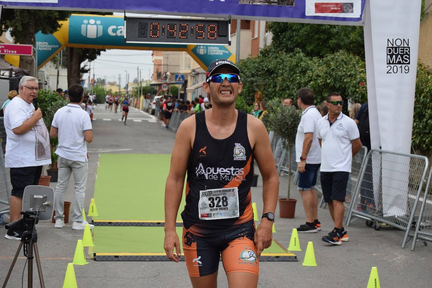
M 414 234 L 409 236 L 413 237 L 413 244 L 411 250 L 414 250 L 417 239 L 432 242 L 432 169 L 429 172 L 428 184 L 426 185 L 423 197 L 419 199 L 422 202 L 419 217 L 416 223 Z M 424 242 L 426 245 L 426 242 Z

